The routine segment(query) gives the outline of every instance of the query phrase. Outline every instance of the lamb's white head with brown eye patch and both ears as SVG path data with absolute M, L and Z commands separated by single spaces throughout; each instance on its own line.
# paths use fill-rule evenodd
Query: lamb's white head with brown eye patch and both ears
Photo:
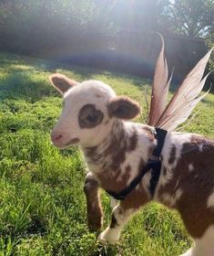
M 64 98 L 63 111 L 51 133 L 53 144 L 95 146 L 107 137 L 116 119 L 129 120 L 139 113 L 138 103 L 117 97 L 98 80 L 78 83 L 61 74 L 50 76 L 52 85 Z

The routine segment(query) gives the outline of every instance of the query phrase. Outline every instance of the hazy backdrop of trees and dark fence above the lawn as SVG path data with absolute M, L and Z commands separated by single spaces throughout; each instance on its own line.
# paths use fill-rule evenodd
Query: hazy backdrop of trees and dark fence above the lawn
M 161 33 L 176 80 L 213 44 L 213 0 L 2 0 L 0 49 L 151 77 Z

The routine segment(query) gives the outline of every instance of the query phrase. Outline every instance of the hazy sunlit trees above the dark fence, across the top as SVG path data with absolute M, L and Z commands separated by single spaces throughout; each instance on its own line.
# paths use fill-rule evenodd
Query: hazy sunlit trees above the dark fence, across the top
M 214 0 L 0 0 L 0 47 L 25 54 L 84 50 L 127 30 L 208 37 L 213 14 Z

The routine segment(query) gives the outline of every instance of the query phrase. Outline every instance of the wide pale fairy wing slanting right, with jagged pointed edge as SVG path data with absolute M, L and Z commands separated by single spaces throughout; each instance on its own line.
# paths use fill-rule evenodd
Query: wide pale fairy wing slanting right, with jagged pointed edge
M 195 68 L 189 72 L 189 75 L 179 86 L 178 91 L 175 92 L 171 101 L 168 102 L 167 108 L 162 112 L 155 126 L 168 131 L 176 129 L 178 124 L 184 123 L 189 118 L 189 114 L 197 103 L 207 94 L 199 97 L 199 93 L 209 75 L 208 74 L 201 80 L 211 51 L 212 49 L 209 50 L 209 52 L 199 60 Z

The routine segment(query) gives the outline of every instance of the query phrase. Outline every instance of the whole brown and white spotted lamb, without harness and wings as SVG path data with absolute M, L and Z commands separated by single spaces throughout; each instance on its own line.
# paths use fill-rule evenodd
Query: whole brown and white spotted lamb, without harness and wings
M 101 81 L 77 83 L 64 75 L 50 77 L 64 95 L 64 109 L 51 138 L 59 148 L 80 145 L 89 172 L 85 193 L 91 229 L 102 226 L 98 187 L 120 192 L 138 176 L 157 144 L 155 128 L 127 120 L 139 113 L 138 103 L 117 97 Z M 185 256 L 214 255 L 214 142 L 191 133 L 168 132 L 161 153 L 161 173 L 154 197 L 151 173 L 112 211 L 110 225 L 99 235 L 115 243 L 121 229 L 150 200 L 176 208 L 195 240 Z

